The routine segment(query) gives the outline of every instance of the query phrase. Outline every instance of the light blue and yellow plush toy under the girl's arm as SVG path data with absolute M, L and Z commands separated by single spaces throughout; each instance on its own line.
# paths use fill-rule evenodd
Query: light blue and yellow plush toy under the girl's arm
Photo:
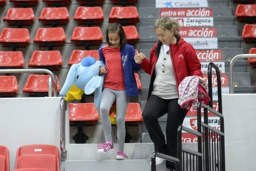
M 78 64 L 73 64 L 60 91 L 61 96 L 66 96 L 65 100 L 81 100 L 82 95 L 94 92 L 94 105 L 100 108 L 100 97 L 102 92 L 104 76 L 99 76 L 100 66 L 106 68 L 102 61 L 97 61 L 93 57 L 85 57 Z

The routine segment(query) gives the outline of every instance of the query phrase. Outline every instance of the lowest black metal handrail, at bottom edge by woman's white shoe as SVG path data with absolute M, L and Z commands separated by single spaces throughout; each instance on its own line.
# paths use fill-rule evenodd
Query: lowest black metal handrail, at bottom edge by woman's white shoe
M 151 171 L 156 171 L 156 157 L 160 157 L 165 160 L 175 162 L 176 171 L 181 171 L 181 165 L 180 165 L 179 159 L 172 157 L 172 156 L 168 156 L 168 155 L 160 153 L 160 152 L 153 152 L 151 154 Z

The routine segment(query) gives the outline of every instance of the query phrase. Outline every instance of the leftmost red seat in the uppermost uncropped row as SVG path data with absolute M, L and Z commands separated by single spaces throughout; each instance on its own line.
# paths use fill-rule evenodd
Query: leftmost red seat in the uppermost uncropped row
M 9 25 L 31 25 L 34 19 L 32 8 L 9 8 L 3 20 Z

